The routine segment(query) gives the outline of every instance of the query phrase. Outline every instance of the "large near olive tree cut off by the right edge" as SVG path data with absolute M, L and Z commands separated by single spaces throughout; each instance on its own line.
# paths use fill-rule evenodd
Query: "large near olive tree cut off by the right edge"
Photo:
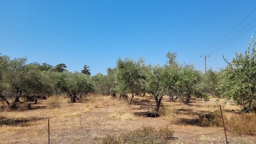
M 236 104 L 252 111 L 256 108 L 256 40 L 248 44 L 245 54 L 236 53 L 236 57 L 227 63 L 220 73 L 221 98 L 234 100 Z

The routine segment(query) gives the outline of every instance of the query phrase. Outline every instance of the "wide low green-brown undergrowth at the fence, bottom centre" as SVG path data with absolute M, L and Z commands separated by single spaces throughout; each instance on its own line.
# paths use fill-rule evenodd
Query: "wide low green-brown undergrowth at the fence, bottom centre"
M 156 129 L 152 126 L 142 126 L 138 130 L 124 132 L 119 136 L 108 135 L 103 138 L 103 144 L 167 144 L 173 139 L 174 131 L 171 127 Z

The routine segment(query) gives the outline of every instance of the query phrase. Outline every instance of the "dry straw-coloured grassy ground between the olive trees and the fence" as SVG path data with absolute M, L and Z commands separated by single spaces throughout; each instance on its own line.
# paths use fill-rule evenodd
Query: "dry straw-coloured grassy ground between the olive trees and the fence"
M 68 101 L 68 98 L 65 101 Z M 223 105 L 223 101 L 217 103 L 216 98 L 211 98 L 209 102 L 192 100 L 190 105 L 186 106 L 180 102 L 169 102 L 168 96 L 164 96 L 162 105 L 167 108 L 167 114 L 158 118 L 147 117 L 147 113 L 155 106 L 154 99 L 150 96 L 135 96 L 132 104 L 128 105 L 127 102 L 118 98 L 90 95 L 77 103 L 64 102 L 59 106 L 60 108 L 49 108 L 48 100 L 39 100 L 38 104 L 31 102 L 30 108 L 27 108 L 29 102 L 22 102 L 18 104 L 20 108 L 15 111 L 5 110 L 5 104 L 1 102 L 0 129 L 47 129 L 49 118 L 51 129 L 83 128 L 121 131 L 135 130 L 141 126 L 172 126 L 176 135 L 183 136 L 184 139 L 189 137 L 186 134 L 200 136 L 201 134 L 216 133 L 224 136 L 222 127 L 201 127 L 195 121 L 195 113 L 213 112 L 219 109 L 219 104 L 222 105 L 226 116 L 239 114 L 238 106 L 232 103 Z

